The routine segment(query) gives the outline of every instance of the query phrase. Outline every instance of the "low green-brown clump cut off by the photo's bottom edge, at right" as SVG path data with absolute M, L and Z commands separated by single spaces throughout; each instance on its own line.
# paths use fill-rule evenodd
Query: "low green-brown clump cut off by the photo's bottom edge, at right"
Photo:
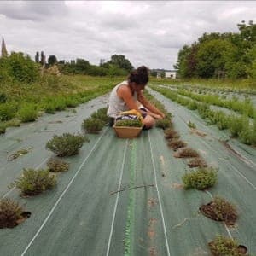
M 217 236 L 208 243 L 213 256 L 244 256 L 247 254 L 247 248 L 238 245 L 236 240 L 230 237 Z

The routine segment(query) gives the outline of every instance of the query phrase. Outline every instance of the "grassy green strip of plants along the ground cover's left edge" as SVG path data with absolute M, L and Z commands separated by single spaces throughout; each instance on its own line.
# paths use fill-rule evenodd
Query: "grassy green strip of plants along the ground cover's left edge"
M 91 81 L 88 77 L 52 78 L 49 84 L 20 84 L 14 88 L 3 87 L 0 94 L 0 134 L 9 126 L 32 122 L 42 113 L 55 113 L 66 108 L 75 108 L 96 96 L 110 91 L 115 79 L 102 78 Z M 48 81 L 48 80 L 47 80 Z M 44 91 L 42 91 L 44 89 Z

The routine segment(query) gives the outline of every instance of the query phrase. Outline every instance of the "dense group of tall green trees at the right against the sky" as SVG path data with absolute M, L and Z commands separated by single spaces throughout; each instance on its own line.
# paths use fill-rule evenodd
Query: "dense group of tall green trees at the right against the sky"
M 183 46 L 174 67 L 181 78 L 256 79 L 256 24 L 241 21 L 239 32 L 205 32 Z

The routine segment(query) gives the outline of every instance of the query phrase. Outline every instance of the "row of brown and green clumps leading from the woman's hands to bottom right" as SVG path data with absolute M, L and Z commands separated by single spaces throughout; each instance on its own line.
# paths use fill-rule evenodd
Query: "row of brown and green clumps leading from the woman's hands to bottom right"
M 190 121 L 188 126 L 195 129 L 195 124 Z M 178 132 L 174 131 L 173 124 L 164 129 L 164 135 L 167 145 L 175 151 L 175 157 L 188 158 L 188 166 L 190 168 L 197 167 L 196 170 L 193 169 L 193 172 L 183 175 L 183 189 L 205 190 L 211 188 L 218 180 L 218 170 L 207 167 L 207 162 L 201 158 L 200 154 L 195 149 L 187 147 L 187 143 L 184 143 Z M 200 212 L 207 218 L 224 221 L 227 225 L 236 223 L 236 207 L 219 196 L 213 197 L 207 205 L 202 205 Z M 213 241 L 208 243 L 208 246 L 212 255 L 247 255 L 247 247 L 239 245 L 236 240 L 225 236 L 216 236 Z

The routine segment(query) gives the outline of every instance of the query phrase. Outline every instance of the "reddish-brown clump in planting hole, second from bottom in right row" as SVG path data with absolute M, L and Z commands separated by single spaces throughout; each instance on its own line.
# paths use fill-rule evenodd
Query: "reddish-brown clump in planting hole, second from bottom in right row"
M 200 211 L 208 218 L 224 221 L 227 225 L 235 224 L 237 218 L 236 208 L 219 196 L 215 196 L 207 205 L 202 205 Z

